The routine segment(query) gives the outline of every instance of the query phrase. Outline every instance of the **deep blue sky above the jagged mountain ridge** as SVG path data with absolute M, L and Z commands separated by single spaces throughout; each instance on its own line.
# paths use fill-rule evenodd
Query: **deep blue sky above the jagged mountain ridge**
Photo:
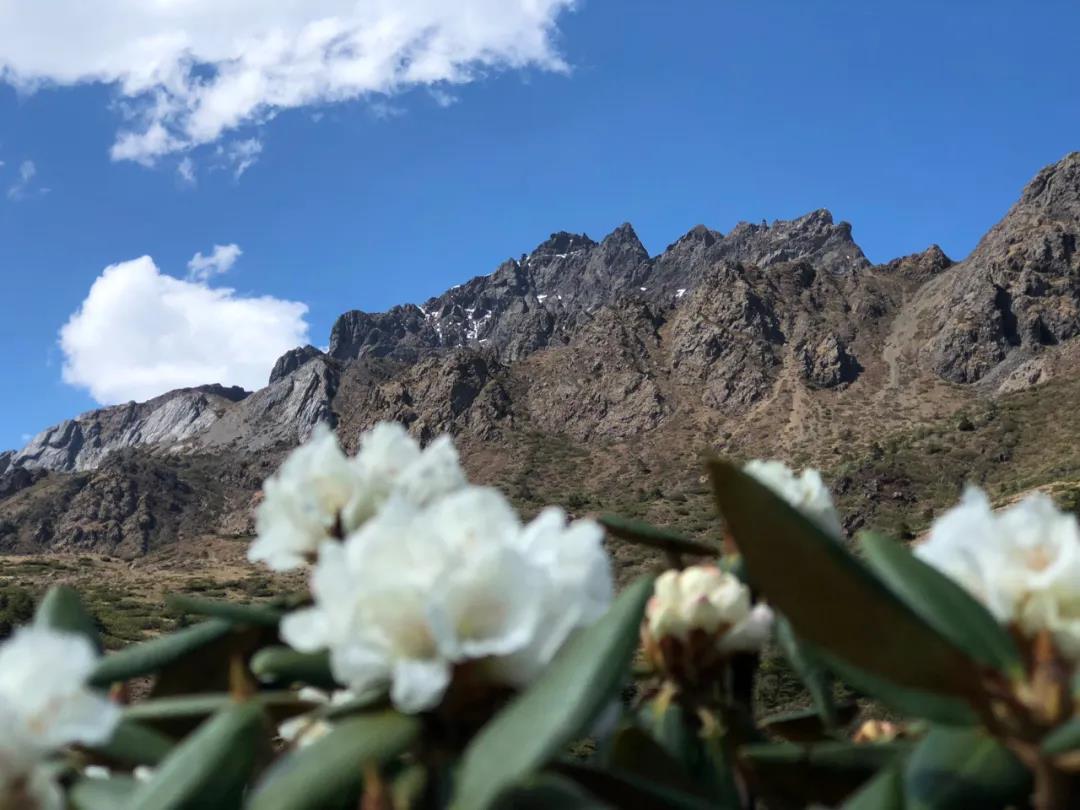
M 0 23 L 16 2 L 0 0 Z M 154 273 L 184 280 L 197 252 L 239 245 L 203 286 L 302 302 L 316 345 L 345 310 L 422 300 L 559 229 L 599 238 L 630 220 L 658 253 L 698 222 L 827 207 L 875 261 L 932 242 L 962 257 L 1041 166 L 1080 148 L 1080 6 L 880 5 L 582 0 L 508 64 L 315 94 L 210 135 L 166 119 L 180 140 L 141 163 L 114 144 L 148 120 L 145 97 L 71 83 L 79 66 L 60 62 L 31 66 L 52 81 L 28 92 L 11 77 L 29 57 L 0 33 L 0 448 L 95 407 L 62 380 L 58 334 L 107 266 L 144 255 L 152 296 L 168 288 Z M 67 48 L 45 23 L 19 24 L 39 48 Z M 238 177 L 244 144 L 260 151 Z M 150 334 L 152 306 L 113 333 L 123 306 L 84 324 L 105 324 L 95 374 L 146 362 L 144 338 L 154 356 L 174 345 Z M 241 353 L 273 339 L 214 335 Z

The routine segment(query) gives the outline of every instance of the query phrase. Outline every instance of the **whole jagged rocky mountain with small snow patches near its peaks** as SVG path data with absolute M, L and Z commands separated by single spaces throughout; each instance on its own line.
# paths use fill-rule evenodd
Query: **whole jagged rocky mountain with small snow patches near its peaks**
M 605 505 L 659 471 L 692 494 L 702 451 L 827 467 L 1068 378 L 1078 238 L 1080 153 L 960 262 L 934 245 L 874 266 L 826 211 L 698 226 L 657 256 L 630 225 L 558 232 L 422 305 L 342 314 L 327 352 L 287 352 L 257 392 L 174 391 L 0 454 L 0 550 L 244 535 L 261 476 L 321 421 L 347 446 L 379 419 L 450 431 L 525 505 Z

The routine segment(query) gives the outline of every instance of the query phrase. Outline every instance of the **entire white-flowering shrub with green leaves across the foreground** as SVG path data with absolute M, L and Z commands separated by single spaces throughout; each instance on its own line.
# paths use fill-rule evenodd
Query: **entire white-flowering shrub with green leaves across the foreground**
M 102 657 L 57 588 L 0 645 L 0 810 L 1077 806 L 1072 516 L 970 489 L 913 552 L 846 539 L 813 470 L 708 469 L 724 551 L 316 431 L 249 548 L 305 592 L 174 597 L 202 620 Z M 605 529 L 669 568 L 616 596 Z M 809 705 L 769 715 L 780 656 Z

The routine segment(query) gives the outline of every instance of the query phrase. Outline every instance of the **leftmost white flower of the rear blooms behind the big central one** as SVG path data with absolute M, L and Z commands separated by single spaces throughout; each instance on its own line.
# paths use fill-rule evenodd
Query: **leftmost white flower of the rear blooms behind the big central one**
M 337 436 L 320 424 L 264 484 L 255 516 L 257 538 L 247 558 L 279 571 L 302 566 L 341 529 L 341 512 L 360 485 L 360 473 Z

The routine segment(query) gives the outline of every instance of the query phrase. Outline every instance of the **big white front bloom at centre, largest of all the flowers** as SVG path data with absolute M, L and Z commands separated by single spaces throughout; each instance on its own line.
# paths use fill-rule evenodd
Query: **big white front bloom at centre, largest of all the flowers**
M 483 487 L 421 509 L 392 497 L 343 544 L 323 546 L 315 606 L 287 617 L 282 636 L 296 649 L 328 648 L 341 684 L 359 692 L 388 685 L 405 712 L 436 706 L 469 661 L 491 664 L 492 677 L 528 677 L 605 598 L 591 579 L 600 575 L 585 571 L 606 567 L 594 551 L 568 548 L 575 537 L 588 546 L 592 532 L 564 523 L 550 513 L 523 529 L 507 500 Z M 513 661 L 508 672 L 503 661 Z

